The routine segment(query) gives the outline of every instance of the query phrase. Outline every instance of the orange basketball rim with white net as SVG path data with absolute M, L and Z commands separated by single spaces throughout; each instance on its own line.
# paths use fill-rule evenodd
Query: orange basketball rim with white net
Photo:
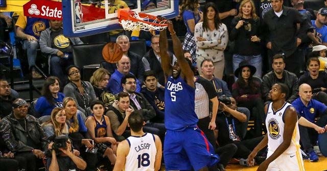
M 162 31 L 168 26 L 165 24 L 166 20 L 161 21 L 153 15 L 137 13 L 129 8 L 119 9 L 118 18 L 123 29 L 128 31 Z

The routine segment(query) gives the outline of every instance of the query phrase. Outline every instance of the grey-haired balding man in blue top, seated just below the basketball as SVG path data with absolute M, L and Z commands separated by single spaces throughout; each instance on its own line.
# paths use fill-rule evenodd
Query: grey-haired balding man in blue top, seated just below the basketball
M 118 94 L 123 91 L 122 78 L 126 74 L 132 74 L 130 72 L 131 63 L 130 63 L 130 58 L 128 58 L 128 56 L 123 54 L 122 59 L 116 62 L 116 66 L 117 69 L 114 70 L 114 73 L 111 75 L 109 82 L 107 84 L 107 90 L 113 94 Z M 141 82 L 138 79 L 136 79 L 136 84 L 137 84 L 136 92 L 140 92 Z

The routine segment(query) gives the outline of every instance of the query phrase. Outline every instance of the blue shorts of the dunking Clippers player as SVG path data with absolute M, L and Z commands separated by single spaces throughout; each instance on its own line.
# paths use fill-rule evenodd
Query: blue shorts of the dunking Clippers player
M 204 133 L 197 127 L 183 131 L 167 130 L 164 144 L 166 170 L 199 170 L 211 167 L 220 158 Z

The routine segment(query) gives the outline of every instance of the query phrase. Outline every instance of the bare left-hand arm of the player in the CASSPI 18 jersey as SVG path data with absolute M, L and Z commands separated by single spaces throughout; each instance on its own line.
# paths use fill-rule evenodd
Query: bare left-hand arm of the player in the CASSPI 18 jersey
M 113 171 L 122 171 L 125 167 L 126 156 L 129 152 L 129 145 L 127 140 L 122 141 L 118 144 L 117 148 L 117 158 L 116 163 L 114 164 Z

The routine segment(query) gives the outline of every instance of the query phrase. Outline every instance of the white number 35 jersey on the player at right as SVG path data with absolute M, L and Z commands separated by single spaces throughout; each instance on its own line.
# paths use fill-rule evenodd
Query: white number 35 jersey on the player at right
M 286 109 L 292 106 L 290 103 L 285 102 L 284 105 L 274 111 L 272 108 L 272 102 L 268 105 L 267 118 L 266 118 L 266 127 L 268 133 L 268 150 L 274 152 L 279 145 L 282 144 L 284 138 L 284 114 Z M 292 141 L 290 147 L 285 150 L 283 154 L 295 153 L 299 148 L 300 134 L 298 131 L 298 122 L 296 122 L 294 132 L 292 135 Z

